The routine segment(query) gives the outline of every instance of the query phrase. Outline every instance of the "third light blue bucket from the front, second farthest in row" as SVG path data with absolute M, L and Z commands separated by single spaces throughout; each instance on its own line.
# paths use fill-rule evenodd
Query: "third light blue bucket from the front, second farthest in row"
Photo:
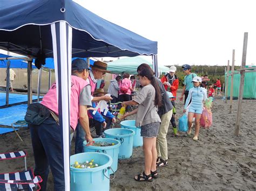
M 128 159 L 132 155 L 133 135 L 135 132 L 130 129 L 108 129 L 104 131 L 106 138 L 117 139 L 121 146 L 118 159 Z

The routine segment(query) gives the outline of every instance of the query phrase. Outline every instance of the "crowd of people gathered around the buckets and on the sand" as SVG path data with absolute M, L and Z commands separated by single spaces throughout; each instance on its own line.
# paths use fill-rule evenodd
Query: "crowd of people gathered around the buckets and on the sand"
M 190 65 L 183 65 L 182 68 L 185 79 L 179 100 L 182 101 L 185 96 L 184 112 L 188 110 L 187 135 L 191 135 L 192 119 L 195 117 L 196 131 L 193 140 L 198 140 L 199 119 L 203 111 L 203 102 L 207 97 L 205 88 L 210 88 L 208 96 L 213 96 L 215 93 L 213 85 L 207 84 L 207 75 L 203 78 L 197 76 L 191 72 Z M 143 137 L 144 172 L 134 176 L 134 179 L 153 181 L 157 178 L 157 168 L 168 165 L 166 136 L 170 122 L 174 135 L 179 136 L 175 107 L 179 87 L 176 67 L 170 67 L 169 73 L 158 79 L 154 76 L 151 67 L 142 63 L 137 68 L 138 80 L 135 76 L 130 77 L 128 73 L 124 73 L 123 76 L 118 75 L 110 81 L 108 92 L 105 92 L 101 86 L 97 88 L 97 80 L 102 79 L 105 73 L 110 73 L 107 71 L 107 63 L 96 61 L 89 67 L 85 60 L 75 59 L 72 61 L 71 70 L 70 139 L 72 140 L 73 133 L 76 132 L 75 153 L 83 152 L 84 140 L 87 145 L 93 144 L 90 126 L 96 129 L 94 138 L 100 138 L 104 137 L 104 131 L 109 129 L 111 124 L 116 123 L 116 118 L 110 111 L 96 110 L 97 104 L 103 100 L 111 103 L 122 102 L 121 105 L 126 107 L 123 119 L 136 114 L 136 126 L 141 128 Z M 219 82 L 216 85 L 218 87 Z M 106 95 L 107 93 L 111 96 Z M 137 109 L 129 108 L 133 105 L 137 105 Z M 62 137 L 59 129 L 55 83 L 41 103 L 29 106 L 27 114 L 32 111 L 37 111 L 41 116 L 38 123 L 34 120 L 29 124 L 35 156 L 35 175 L 43 178 L 41 188 L 46 190 L 50 167 L 55 190 L 64 190 Z M 26 120 L 29 121 L 27 114 Z

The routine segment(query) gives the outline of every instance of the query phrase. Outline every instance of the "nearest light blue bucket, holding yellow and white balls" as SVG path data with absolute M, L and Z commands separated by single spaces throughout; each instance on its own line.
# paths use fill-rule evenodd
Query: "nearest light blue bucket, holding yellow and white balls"
M 70 190 L 109 190 L 112 158 L 110 155 L 97 152 L 74 154 L 70 157 L 70 165 L 75 161 L 85 162 L 94 160 L 98 167 L 75 168 L 70 166 Z

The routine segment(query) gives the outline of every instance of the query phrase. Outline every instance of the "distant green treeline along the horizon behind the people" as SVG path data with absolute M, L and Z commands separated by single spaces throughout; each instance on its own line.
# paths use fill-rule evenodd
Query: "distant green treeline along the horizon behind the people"
M 171 66 L 166 66 L 171 67 Z M 177 72 L 176 75 L 179 78 L 180 86 L 183 84 L 184 81 L 184 72 L 181 66 L 176 66 Z M 192 72 L 196 73 L 198 76 L 208 75 L 208 78 L 211 80 L 209 83 L 215 83 L 217 78 L 220 79 L 221 86 L 225 82 L 225 67 L 226 66 L 192 66 Z M 239 66 L 235 66 L 235 69 L 240 68 Z M 231 69 L 231 68 L 230 68 Z

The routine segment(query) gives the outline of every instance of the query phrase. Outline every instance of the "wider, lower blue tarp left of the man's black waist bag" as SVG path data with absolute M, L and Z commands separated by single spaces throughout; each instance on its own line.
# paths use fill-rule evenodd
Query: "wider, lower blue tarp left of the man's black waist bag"
M 11 126 L 19 120 L 24 120 L 27 104 L 15 105 L 9 108 L 0 109 L 0 125 Z

